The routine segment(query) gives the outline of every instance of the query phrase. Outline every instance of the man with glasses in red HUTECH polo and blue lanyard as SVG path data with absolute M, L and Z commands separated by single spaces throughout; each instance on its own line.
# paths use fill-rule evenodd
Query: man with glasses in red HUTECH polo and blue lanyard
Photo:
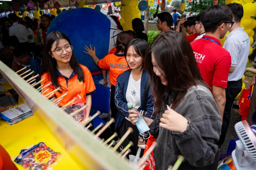
M 232 19 L 232 11 L 227 6 L 211 6 L 201 14 L 205 35 L 190 43 L 201 75 L 209 85 L 222 117 L 231 56 L 222 48 L 219 39 L 224 38 L 232 26 Z

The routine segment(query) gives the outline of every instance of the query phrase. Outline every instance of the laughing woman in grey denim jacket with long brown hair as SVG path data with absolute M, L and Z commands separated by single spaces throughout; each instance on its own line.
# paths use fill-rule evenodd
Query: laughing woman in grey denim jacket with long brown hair
M 143 117 L 152 135 L 158 136 L 153 150 L 155 169 L 168 169 L 182 155 L 185 161 L 179 169 L 216 170 L 219 149 L 215 142 L 222 119 L 188 40 L 177 31 L 158 34 L 146 53 L 144 67 L 159 116 L 154 120 Z M 129 113 L 132 123 L 141 116 L 136 110 Z

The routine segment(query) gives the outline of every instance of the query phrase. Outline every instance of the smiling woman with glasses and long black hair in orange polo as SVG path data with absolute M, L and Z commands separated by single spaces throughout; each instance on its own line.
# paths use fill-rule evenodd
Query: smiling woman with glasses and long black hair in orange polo
M 82 102 L 87 104 L 85 109 L 86 116 L 89 117 L 90 108 L 92 104 L 91 93 L 96 89 L 92 79 L 92 75 L 87 67 L 79 64 L 75 54 L 72 52 L 73 46 L 69 38 L 60 31 L 53 31 L 49 33 L 45 39 L 42 60 L 42 77 L 45 79 L 41 85 L 52 83 L 47 88 L 44 95 L 60 87 L 55 94 L 47 96 L 48 98 L 60 97 L 68 92 L 66 96 L 60 101 L 59 106 L 64 106 L 74 97 L 81 97 Z M 80 100 L 77 98 L 77 100 Z M 71 106 L 71 103 L 68 106 Z

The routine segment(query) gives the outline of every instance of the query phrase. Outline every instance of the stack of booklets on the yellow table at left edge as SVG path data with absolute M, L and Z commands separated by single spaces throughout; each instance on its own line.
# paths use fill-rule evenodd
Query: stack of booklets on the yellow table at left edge
M 0 117 L 6 120 L 7 123 L 9 123 L 9 125 L 18 123 L 24 120 L 25 118 L 31 117 L 33 115 L 34 113 L 26 104 L 9 108 L 9 110 L 0 113 Z

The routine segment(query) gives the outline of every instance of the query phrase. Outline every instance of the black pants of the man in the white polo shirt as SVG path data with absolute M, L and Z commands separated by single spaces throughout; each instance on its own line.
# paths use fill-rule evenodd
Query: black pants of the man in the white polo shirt
M 230 122 L 231 117 L 231 109 L 233 106 L 234 99 L 237 97 L 238 93 L 242 90 L 242 79 L 238 81 L 229 81 L 227 88 L 226 88 L 226 104 L 223 113 L 223 120 L 222 120 L 222 127 L 221 127 L 221 134 L 219 141 L 216 143 L 219 148 L 225 141 L 226 133 L 228 130 L 228 125 Z

